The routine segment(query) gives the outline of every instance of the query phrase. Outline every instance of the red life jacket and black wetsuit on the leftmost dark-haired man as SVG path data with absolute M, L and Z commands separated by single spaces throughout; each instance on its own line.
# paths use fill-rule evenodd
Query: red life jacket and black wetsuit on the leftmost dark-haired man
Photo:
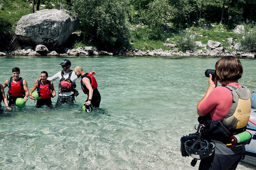
M 17 98 L 25 97 L 25 90 L 23 88 L 23 79 L 19 78 L 19 80 L 14 83 L 12 77 L 8 79 L 8 95 L 9 95 L 9 106 L 15 105 L 15 101 Z

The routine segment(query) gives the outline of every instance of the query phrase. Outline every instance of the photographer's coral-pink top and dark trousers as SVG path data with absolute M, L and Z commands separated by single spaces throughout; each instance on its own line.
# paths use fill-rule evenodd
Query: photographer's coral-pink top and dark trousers
M 241 85 L 235 83 L 227 84 L 227 86 L 242 88 Z M 250 98 L 250 92 L 245 95 L 248 95 L 248 98 Z M 210 95 L 198 106 L 198 109 L 202 114 L 206 116 L 209 113 L 212 122 L 218 122 L 223 118 L 225 119 L 226 115 L 229 114 L 229 110 L 231 110 L 232 105 L 232 91 L 226 87 L 216 87 L 212 90 Z M 247 107 L 247 109 L 250 110 L 250 104 Z M 239 161 L 243 157 L 244 145 L 230 148 L 226 146 L 225 141 L 227 140 L 229 140 L 229 138 L 217 140 L 214 137 L 212 139 L 212 141 L 215 143 L 214 154 L 206 159 L 202 159 L 199 165 L 199 169 L 236 169 Z

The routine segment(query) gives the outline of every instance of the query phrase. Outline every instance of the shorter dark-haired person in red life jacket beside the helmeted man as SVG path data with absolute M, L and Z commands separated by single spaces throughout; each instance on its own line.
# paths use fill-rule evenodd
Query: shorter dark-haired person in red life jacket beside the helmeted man
M 32 96 L 33 91 L 37 89 L 38 96 L 41 97 L 41 99 L 36 101 L 36 105 L 38 107 L 41 107 L 43 105 L 51 106 L 52 105 L 52 97 L 56 96 L 56 92 L 54 90 L 53 83 L 49 80 L 48 73 L 46 71 L 41 72 L 41 80 L 38 81 L 38 83 L 34 84 L 33 88 L 29 92 L 30 99 L 36 100 L 35 96 Z

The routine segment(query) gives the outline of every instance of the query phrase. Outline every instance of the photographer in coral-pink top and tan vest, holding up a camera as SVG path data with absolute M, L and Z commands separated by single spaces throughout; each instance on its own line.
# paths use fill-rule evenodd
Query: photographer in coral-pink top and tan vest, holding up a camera
M 215 143 L 215 151 L 210 157 L 201 160 L 199 169 L 236 169 L 238 162 L 243 157 L 244 144 L 231 148 L 228 147 L 228 143 L 230 143 L 231 135 L 244 132 L 246 129 L 251 112 L 251 93 L 249 89 L 238 83 L 238 79 L 243 74 L 243 67 L 238 58 L 223 57 L 215 64 L 215 69 L 217 77 L 212 79 L 210 74 L 209 87 L 197 105 L 198 120 L 208 116 L 208 122 L 211 125 L 217 125 L 214 131 L 207 134 Z M 221 86 L 217 87 L 218 82 Z M 240 97 L 244 96 L 244 98 L 235 99 L 234 96 L 237 97 L 238 93 Z M 237 106 L 233 104 L 233 100 L 238 100 Z M 242 109 L 237 109 L 240 106 Z M 237 121 L 237 127 L 234 128 L 230 120 L 228 121 L 227 115 L 232 115 L 233 120 Z M 217 131 L 220 129 L 222 132 Z M 223 133 L 224 131 L 226 134 Z M 227 136 L 228 133 L 229 136 Z

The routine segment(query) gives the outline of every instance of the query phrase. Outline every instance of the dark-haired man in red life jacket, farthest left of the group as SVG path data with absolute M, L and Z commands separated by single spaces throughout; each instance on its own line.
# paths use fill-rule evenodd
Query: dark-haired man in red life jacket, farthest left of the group
M 4 81 L 3 87 L 8 87 L 9 106 L 14 106 L 17 98 L 24 98 L 25 102 L 28 100 L 28 84 L 20 78 L 18 67 L 12 69 L 12 77 Z

